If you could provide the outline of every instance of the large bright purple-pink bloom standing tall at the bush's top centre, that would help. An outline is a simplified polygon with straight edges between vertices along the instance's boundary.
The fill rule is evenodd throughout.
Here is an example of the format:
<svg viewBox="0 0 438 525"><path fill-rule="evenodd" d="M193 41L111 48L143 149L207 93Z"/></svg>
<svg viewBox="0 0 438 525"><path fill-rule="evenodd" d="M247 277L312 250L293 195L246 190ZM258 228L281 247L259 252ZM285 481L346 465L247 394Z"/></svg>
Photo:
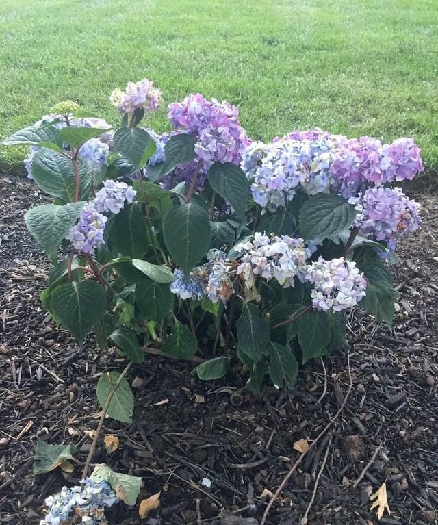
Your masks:
<svg viewBox="0 0 438 525"><path fill-rule="evenodd" d="M195 151L207 168L214 162L240 164L250 144L239 123L239 110L226 101L207 101L201 94L191 94L181 103L170 104L168 117L175 130L198 138Z"/></svg>

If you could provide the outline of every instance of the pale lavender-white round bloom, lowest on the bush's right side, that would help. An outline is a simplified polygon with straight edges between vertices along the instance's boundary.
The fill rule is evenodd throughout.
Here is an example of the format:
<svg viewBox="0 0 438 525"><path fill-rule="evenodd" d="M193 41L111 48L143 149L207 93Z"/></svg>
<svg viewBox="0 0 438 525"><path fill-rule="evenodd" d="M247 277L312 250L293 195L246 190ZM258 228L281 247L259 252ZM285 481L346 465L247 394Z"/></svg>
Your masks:
<svg viewBox="0 0 438 525"><path fill-rule="evenodd" d="M344 257L326 261L322 257L310 264L305 274L313 284L313 308L322 311L342 311L356 306L365 296L367 282L356 263Z"/></svg>

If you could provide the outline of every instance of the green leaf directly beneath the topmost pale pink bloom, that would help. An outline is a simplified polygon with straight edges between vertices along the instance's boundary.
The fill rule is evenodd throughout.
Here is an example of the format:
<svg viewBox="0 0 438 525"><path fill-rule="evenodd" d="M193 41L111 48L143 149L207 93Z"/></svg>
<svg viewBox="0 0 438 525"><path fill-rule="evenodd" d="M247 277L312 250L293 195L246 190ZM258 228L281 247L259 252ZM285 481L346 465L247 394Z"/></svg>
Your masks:
<svg viewBox="0 0 438 525"><path fill-rule="evenodd" d="M155 140L139 127L123 127L114 133L114 151L123 155L136 169L145 166L155 149Z"/></svg>

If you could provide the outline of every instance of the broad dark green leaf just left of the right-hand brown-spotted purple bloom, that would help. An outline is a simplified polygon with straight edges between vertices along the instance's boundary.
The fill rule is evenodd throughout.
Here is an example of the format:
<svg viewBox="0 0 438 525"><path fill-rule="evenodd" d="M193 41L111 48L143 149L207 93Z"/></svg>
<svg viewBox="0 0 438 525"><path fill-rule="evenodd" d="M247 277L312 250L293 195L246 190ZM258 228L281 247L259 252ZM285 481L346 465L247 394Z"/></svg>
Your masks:
<svg viewBox="0 0 438 525"><path fill-rule="evenodd" d="M300 235L305 239L325 239L350 228L356 211L339 195L320 193L311 197L300 211Z"/></svg>

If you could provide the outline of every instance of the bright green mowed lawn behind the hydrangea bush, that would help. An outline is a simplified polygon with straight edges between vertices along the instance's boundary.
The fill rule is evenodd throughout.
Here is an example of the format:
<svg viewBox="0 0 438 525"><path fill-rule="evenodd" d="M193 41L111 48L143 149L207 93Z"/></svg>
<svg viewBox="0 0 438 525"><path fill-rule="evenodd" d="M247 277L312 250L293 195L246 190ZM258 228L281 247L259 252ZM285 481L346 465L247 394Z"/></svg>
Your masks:
<svg viewBox="0 0 438 525"><path fill-rule="evenodd" d="M438 168L436 0L2 0L0 34L0 138L64 99L114 123L112 89L147 77L237 104L253 138L413 136Z"/></svg>

